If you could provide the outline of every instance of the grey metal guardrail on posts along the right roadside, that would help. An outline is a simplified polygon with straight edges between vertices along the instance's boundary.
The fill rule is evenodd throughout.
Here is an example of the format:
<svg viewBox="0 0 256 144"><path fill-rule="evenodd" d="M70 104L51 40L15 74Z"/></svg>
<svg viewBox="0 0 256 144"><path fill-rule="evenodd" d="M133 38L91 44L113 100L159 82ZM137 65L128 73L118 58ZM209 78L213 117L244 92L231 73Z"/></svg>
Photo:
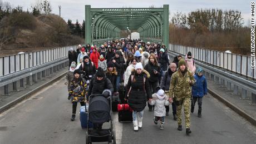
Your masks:
<svg viewBox="0 0 256 144"><path fill-rule="evenodd" d="M173 52L170 47L168 53L171 56L178 56L181 53ZM191 51L192 52L192 51ZM185 56L185 54L181 54L181 56ZM251 103L250 105L256 105L256 83L255 81L247 80L246 78L240 77L236 73L232 73L229 71L223 71L222 69L218 69L212 66L209 66L208 62L199 61L195 59L195 63L197 66L204 68L206 78L210 78L211 81L218 81L219 84L225 86L227 83L228 91L232 90L233 85L233 95L239 95L238 88L242 88L242 95L240 99L249 99L247 97L247 92L251 92L252 95L250 97Z"/></svg>

